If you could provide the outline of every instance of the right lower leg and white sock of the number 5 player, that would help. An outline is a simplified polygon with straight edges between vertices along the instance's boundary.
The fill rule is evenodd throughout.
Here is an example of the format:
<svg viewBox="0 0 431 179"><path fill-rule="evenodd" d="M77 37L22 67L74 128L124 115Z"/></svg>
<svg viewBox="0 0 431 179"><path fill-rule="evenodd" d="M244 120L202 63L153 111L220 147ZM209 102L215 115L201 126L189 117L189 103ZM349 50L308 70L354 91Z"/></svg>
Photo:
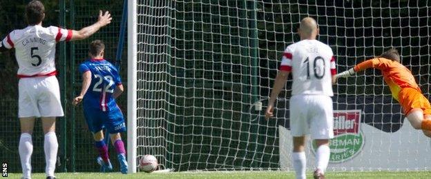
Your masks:
<svg viewBox="0 0 431 179"><path fill-rule="evenodd" d="M47 177L54 177L55 163L57 162L58 141L55 135L55 117L42 117L42 127L44 128L44 151Z"/></svg>

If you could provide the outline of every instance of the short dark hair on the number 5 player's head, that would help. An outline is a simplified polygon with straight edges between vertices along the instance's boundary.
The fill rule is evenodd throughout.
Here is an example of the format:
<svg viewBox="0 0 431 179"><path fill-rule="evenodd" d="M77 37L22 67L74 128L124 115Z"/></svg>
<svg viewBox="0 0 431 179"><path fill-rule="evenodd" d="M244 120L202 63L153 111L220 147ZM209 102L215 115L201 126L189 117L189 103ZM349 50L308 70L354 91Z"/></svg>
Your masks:
<svg viewBox="0 0 431 179"><path fill-rule="evenodd" d="M33 0L26 6L26 19L29 25L36 25L44 20L45 7L41 1Z"/></svg>

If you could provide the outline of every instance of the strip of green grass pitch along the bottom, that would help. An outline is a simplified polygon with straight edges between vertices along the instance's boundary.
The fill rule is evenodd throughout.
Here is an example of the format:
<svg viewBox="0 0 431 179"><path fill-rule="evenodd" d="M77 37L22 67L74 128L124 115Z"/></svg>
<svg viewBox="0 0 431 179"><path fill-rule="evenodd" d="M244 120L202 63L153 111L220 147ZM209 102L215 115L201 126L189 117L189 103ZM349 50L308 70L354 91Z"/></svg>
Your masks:
<svg viewBox="0 0 431 179"><path fill-rule="evenodd" d="M293 172L283 171L204 171L204 172L171 172L171 173L56 173L57 178L295 178ZM9 178L20 178L21 173L9 173ZM33 179L45 178L44 173L33 173ZM312 173L307 173L312 178ZM431 171L328 171L326 178L431 178Z"/></svg>

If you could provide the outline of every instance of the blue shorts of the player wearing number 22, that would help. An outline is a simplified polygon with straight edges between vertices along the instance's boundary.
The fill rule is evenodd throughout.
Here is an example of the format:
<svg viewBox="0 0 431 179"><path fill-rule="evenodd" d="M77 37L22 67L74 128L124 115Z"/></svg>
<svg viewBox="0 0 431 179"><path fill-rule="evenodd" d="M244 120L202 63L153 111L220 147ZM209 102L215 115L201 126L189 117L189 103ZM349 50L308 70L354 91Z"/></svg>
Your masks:
<svg viewBox="0 0 431 179"><path fill-rule="evenodd" d="M109 134L126 131L124 117L119 107L114 107L111 111L102 112L100 109L84 107L84 116L88 125L88 129L93 133L102 130L105 127Z"/></svg>

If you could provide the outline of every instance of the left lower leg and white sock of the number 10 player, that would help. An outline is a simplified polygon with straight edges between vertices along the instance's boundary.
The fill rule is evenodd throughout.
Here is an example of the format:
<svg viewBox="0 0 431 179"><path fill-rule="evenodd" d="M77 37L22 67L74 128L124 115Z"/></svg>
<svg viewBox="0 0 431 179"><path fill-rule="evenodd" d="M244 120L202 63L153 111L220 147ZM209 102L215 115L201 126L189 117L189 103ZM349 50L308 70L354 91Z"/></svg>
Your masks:
<svg viewBox="0 0 431 179"><path fill-rule="evenodd" d="M292 164L294 165L296 178L305 179L305 169L307 166L307 158L305 157L305 136L294 137Z"/></svg>

